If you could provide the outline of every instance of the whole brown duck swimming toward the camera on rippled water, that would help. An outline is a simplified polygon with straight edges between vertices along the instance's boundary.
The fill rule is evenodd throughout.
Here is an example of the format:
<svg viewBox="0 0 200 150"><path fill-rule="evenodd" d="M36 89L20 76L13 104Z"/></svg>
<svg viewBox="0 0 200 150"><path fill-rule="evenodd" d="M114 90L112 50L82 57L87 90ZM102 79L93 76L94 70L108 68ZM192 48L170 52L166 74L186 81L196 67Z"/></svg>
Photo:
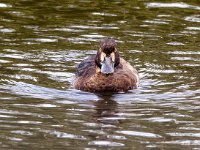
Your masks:
<svg viewBox="0 0 200 150"><path fill-rule="evenodd" d="M139 75L120 57L116 41L106 37L95 55L77 65L73 85L87 92L127 92L139 86Z"/></svg>

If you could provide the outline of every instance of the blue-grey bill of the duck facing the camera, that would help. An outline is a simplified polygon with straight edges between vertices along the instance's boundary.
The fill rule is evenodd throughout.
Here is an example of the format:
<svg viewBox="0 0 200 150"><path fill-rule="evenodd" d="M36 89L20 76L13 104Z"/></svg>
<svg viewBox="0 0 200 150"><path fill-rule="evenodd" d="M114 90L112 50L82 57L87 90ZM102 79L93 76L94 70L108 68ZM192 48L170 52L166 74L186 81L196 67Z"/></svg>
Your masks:
<svg viewBox="0 0 200 150"><path fill-rule="evenodd" d="M105 57L104 62L101 64L101 73L111 74L114 72L114 63L111 57Z"/></svg>

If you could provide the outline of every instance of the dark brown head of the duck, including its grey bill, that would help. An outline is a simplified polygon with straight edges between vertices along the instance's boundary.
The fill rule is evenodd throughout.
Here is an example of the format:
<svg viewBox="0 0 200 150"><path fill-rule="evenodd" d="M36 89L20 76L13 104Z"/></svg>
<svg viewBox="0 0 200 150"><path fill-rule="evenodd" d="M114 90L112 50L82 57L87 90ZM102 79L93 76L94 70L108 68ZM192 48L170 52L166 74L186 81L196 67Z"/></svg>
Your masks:
<svg viewBox="0 0 200 150"><path fill-rule="evenodd" d="M100 42L100 48L95 58L96 72L106 75L114 73L114 68L120 63L119 52L116 46L115 40L110 37L104 38Z"/></svg>

